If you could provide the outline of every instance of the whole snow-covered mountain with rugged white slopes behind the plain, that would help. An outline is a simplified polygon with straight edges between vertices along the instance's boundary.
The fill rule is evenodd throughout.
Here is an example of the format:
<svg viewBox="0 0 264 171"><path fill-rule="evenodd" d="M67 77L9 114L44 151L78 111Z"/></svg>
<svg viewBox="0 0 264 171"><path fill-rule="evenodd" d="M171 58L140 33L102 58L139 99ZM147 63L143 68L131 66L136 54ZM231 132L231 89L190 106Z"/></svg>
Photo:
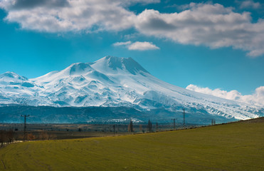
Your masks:
<svg viewBox="0 0 264 171"><path fill-rule="evenodd" d="M258 106L173 86L152 76L132 58L106 56L93 63L73 63L28 79L16 73L0 75L0 103L75 107L128 107L142 112L200 113L248 119L263 115ZM157 112L159 110L159 112ZM198 117L198 114L197 114Z"/></svg>

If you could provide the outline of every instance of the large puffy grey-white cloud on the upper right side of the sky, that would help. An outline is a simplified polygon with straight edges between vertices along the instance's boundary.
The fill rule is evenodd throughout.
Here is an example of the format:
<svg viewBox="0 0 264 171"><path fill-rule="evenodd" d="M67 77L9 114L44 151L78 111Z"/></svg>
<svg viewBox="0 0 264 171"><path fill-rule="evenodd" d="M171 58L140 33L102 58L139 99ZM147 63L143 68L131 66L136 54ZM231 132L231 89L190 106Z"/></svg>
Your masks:
<svg viewBox="0 0 264 171"><path fill-rule="evenodd" d="M177 43L211 48L232 46L249 51L249 56L264 54L264 20L251 22L250 13L238 14L221 4L189 4L180 13L161 14L146 9L137 16L136 28L149 36Z"/></svg>

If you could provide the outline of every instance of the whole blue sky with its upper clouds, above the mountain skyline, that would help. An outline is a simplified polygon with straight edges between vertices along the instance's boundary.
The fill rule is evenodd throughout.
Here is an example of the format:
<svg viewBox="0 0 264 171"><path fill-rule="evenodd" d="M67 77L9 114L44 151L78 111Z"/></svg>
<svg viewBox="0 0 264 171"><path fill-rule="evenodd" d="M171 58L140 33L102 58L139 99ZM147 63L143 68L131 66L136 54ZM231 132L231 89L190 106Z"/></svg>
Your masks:
<svg viewBox="0 0 264 171"><path fill-rule="evenodd" d="M0 0L0 73L35 78L112 55L183 88L261 94L263 9L256 0Z"/></svg>

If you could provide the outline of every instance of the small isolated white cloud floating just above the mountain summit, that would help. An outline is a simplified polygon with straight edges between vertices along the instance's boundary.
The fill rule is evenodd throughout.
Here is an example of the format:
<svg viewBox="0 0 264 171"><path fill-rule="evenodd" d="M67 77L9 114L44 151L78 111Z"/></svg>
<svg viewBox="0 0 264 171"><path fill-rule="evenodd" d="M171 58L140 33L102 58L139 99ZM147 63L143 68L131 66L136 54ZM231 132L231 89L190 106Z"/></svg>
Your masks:
<svg viewBox="0 0 264 171"><path fill-rule="evenodd" d="M129 50L132 51L147 51L147 50L155 50L159 49L156 45L154 45L152 42L148 41L136 41L132 43L131 41L125 41L125 42L117 42L113 44L114 46L125 46Z"/></svg>

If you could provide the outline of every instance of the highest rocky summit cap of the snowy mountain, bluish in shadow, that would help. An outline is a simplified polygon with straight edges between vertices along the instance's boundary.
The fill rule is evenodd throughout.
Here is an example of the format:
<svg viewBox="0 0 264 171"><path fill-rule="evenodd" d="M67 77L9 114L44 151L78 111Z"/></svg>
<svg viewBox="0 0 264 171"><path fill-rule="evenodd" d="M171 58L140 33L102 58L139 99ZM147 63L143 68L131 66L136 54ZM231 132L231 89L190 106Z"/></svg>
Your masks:
<svg viewBox="0 0 264 171"><path fill-rule="evenodd" d="M91 64L93 68L104 73L105 72L116 72L117 70L127 71L135 75L136 73L149 73L142 66L139 65L132 58L120 58L116 56L105 56L100 58L98 61L95 61Z"/></svg>

